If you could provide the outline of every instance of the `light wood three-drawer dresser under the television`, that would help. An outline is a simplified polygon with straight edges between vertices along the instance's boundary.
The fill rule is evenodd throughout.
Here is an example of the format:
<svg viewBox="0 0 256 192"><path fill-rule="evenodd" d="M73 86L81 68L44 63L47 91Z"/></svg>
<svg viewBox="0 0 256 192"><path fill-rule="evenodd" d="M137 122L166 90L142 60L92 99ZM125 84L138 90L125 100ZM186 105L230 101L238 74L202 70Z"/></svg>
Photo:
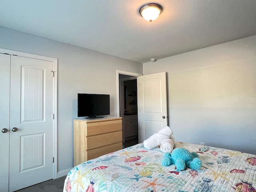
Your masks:
<svg viewBox="0 0 256 192"><path fill-rule="evenodd" d="M122 117L74 119L74 166L122 149Z"/></svg>

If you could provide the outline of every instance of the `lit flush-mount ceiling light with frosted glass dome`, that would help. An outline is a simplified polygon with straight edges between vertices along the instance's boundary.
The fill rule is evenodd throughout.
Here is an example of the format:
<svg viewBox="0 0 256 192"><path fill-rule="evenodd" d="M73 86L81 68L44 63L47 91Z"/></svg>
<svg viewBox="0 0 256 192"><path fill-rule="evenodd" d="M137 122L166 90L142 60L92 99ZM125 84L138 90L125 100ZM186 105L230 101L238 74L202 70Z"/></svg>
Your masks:
<svg viewBox="0 0 256 192"><path fill-rule="evenodd" d="M159 14L162 12L162 6L155 3L149 3L142 6L139 10L140 15L147 21L154 21L158 18Z"/></svg>

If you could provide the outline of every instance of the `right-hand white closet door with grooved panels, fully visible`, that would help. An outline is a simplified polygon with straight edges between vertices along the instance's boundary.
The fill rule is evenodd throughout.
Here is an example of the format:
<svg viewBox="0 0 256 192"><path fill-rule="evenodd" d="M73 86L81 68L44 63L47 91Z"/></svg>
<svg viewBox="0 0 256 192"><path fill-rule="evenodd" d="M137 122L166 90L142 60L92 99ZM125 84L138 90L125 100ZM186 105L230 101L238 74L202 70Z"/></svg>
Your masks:
<svg viewBox="0 0 256 192"><path fill-rule="evenodd" d="M53 178L53 62L11 56L9 190Z"/></svg>

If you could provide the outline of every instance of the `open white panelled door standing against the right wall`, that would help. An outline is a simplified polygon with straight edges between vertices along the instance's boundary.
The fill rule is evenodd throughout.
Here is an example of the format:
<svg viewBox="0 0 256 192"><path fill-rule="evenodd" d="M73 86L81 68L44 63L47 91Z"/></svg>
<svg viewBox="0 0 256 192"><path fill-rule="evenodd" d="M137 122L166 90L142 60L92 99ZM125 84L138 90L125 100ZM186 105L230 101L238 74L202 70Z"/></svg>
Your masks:
<svg viewBox="0 0 256 192"><path fill-rule="evenodd" d="M139 76L138 140L143 142L167 126L166 73Z"/></svg>

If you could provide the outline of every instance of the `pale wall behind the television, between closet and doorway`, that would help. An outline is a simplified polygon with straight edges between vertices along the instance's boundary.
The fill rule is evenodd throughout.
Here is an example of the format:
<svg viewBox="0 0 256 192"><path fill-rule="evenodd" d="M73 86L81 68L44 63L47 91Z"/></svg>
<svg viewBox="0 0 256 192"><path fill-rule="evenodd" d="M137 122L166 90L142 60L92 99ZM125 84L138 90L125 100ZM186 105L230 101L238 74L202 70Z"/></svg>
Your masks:
<svg viewBox="0 0 256 192"><path fill-rule="evenodd" d="M116 116L116 70L142 74L141 63L1 26L0 48L58 59L58 176L73 167L77 93L110 94L110 116Z"/></svg>

